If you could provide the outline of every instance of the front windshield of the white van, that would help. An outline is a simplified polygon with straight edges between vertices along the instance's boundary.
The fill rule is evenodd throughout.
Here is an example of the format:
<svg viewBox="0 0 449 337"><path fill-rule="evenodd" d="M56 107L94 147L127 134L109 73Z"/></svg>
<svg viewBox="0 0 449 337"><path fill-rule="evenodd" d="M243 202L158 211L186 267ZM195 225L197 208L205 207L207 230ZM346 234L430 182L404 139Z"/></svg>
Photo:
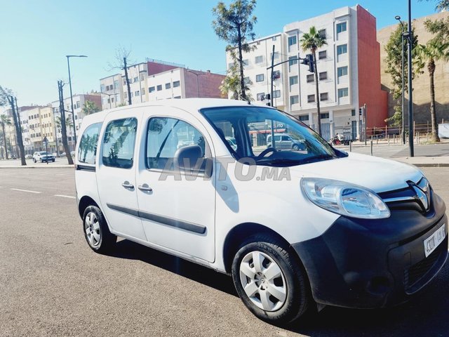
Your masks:
<svg viewBox="0 0 449 337"><path fill-rule="evenodd" d="M217 107L201 110L236 159L293 166L345 157L295 117L268 107ZM234 140L234 145L229 142ZM274 141L273 141L274 140Z"/></svg>

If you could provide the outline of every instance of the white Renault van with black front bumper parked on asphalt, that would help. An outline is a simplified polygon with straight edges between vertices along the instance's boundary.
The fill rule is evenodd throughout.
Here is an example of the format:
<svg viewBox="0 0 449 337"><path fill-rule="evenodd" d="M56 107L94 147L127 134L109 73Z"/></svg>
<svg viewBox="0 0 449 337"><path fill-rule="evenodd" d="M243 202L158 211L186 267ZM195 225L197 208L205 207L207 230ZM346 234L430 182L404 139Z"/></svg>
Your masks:
<svg viewBox="0 0 449 337"><path fill-rule="evenodd" d="M286 128L305 150L266 147ZM86 116L80 135L91 249L119 236L228 273L268 322L401 303L448 256L445 204L422 171L336 150L272 107L159 100Z"/></svg>

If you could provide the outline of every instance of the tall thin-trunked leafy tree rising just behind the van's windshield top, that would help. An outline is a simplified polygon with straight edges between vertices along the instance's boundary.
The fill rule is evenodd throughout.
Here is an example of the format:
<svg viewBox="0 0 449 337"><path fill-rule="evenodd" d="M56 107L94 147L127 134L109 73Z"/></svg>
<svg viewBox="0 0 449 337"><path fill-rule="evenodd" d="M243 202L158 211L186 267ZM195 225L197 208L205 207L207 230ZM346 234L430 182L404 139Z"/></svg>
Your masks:
<svg viewBox="0 0 449 337"><path fill-rule="evenodd" d="M235 0L229 4L229 8L220 1L212 9L215 20L212 27L219 39L226 41L228 46L226 50L231 53L234 64L238 63L240 91L239 96L242 100L248 100L246 94L245 76L243 74L243 52L251 51L248 39L255 39L253 31L257 18L253 15L255 9L255 0ZM236 55L234 49L237 49ZM234 75L233 75L234 76Z"/></svg>

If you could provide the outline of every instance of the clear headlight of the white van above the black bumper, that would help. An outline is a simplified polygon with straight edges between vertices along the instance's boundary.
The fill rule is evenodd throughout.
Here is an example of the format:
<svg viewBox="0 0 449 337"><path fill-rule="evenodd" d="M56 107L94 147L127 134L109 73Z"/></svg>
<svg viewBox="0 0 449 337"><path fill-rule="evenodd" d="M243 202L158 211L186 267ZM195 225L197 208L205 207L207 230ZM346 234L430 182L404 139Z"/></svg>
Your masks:
<svg viewBox="0 0 449 337"><path fill-rule="evenodd" d="M387 205L375 192L343 181L323 178L302 178L302 192L328 211L362 219L389 218Z"/></svg>

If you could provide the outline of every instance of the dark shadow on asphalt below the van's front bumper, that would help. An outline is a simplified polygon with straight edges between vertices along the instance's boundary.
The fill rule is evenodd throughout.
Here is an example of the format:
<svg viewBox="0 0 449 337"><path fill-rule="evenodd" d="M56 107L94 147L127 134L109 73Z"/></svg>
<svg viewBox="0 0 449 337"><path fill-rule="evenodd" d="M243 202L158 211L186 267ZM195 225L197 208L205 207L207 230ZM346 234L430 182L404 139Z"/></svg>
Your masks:
<svg viewBox="0 0 449 337"><path fill-rule="evenodd" d="M449 263L408 303L379 310L327 307L286 329L311 337L449 336Z"/></svg>

